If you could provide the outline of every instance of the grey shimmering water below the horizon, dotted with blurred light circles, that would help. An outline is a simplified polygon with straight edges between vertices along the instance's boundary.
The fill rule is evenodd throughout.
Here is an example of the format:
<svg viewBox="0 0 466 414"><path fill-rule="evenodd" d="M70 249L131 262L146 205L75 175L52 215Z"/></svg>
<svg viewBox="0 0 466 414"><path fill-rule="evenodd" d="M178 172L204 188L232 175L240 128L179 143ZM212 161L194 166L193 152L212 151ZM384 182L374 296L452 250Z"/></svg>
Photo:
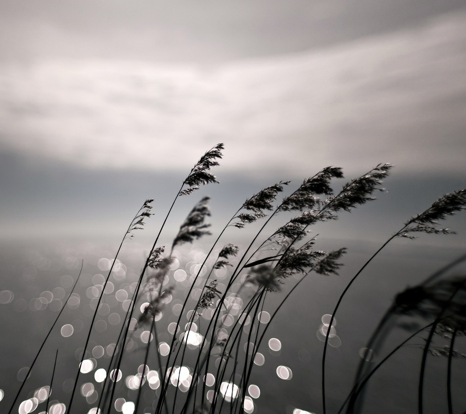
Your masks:
<svg viewBox="0 0 466 414"><path fill-rule="evenodd" d="M175 287L170 300L164 305L163 316L157 321L159 342L170 343L174 332L173 322L181 309L192 279L199 270L199 264L205 258L202 245L189 246L175 251L176 260L171 265L168 285ZM321 363L323 333L328 317L324 315L333 311L338 295L349 279L363 265L378 246L356 240L342 241L336 239L319 240L318 249L330 251L347 247L349 252L343 258L345 266L340 275L322 276L310 273L289 297L277 317L270 322L264 342L261 344L258 364L254 366L249 389L253 397L251 405L257 413L298 413L296 409L311 413L322 412L321 398ZM113 240L103 241L55 241L55 242L14 242L3 243L0 262L0 389L3 399L0 401L2 412L7 412L14 395L19 389L27 368L53 324L58 312L71 291L83 263L82 275L72 298L63 311L57 325L42 350L30 378L21 393L19 404L34 397L34 392L50 384L55 351L58 349L57 368L50 404L68 406L73 379L77 373L86 333L92 314L96 307L104 279L107 277L110 260L117 250ZM119 261L114 266L100 305L96 323L88 346L89 368L83 369L76 390L73 405L77 413L87 413L97 406L102 390L101 380L110 361L112 345L116 342L118 329L123 323L134 292L139 272L144 265L144 253L147 246L131 241L124 245ZM334 334L330 338L327 356L327 407L329 413L336 413L348 395L357 364L361 361L362 349L370 334L391 305L397 292L408 285L413 286L427 278L433 271L446 265L464 252L459 248L442 248L438 245L426 245L399 240L389 245L361 274L349 290L338 314ZM214 257L214 256L212 256ZM216 256L215 256L216 257ZM210 269L213 260L206 264ZM461 274L465 266L460 265L450 274ZM201 275L203 272L201 272ZM205 277L205 276L204 276ZM219 290L225 288L227 279L223 269L213 276L219 282ZM298 278L290 278L280 292L267 297L260 326L265 326L268 315L273 314L277 304L295 285ZM195 286L193 298L196 296ZM233 291L238 286L233 285ZM223 291L222 291L223 292ZM199 294L199 290L198 290ZM243 299L251 294L245 289ZM248 296L249 295L249 296ZM189 303L192 309L194 299ZM139 299L136 315L147 297ZM236 316L233 316L233 319ZM327 319L326 319L327 318ZM204 312L196 322L198 332L203 333L207 319ZM186 315L181 319L181 328L187 323ZM170 326L170 324L172 324ZM130 406L123 403L136 400L134 377L137 369L144 362L144 350L148 335L142 334L148 327L138 329L127 344L121 366L122 378L119 381L116 398L117 409L123 413L130 412ZM323 329L323 330L322 330ZM148 334L148 333L147 333ZM382 353L388 353L394 346L409 336L410 332L395 329L386 339ZM436 339L438 346L447 342ZM414 413L417 410L418 372L424 344L418 338L410 346L400 349L370 380L365 393L364 413ZM459 352L464 346L463 339L457 341ZM456 348L456 346L455 346ZM187 350L186 365L193 364L195 346ZM150 370L159 369L155 357L155 347L149 358ZM164 351L161 349L162 360ZM192 353L192 354L190 354ZM375 355L374 363L382 355ZM453 362L452 394L454 407L464 409L466 400L462 393L466 361L455 359ZM99 371L100 370L100 371ZM211 372L216 372L213 369ZM130 377L130 379L128 379ZM133 380L133 382L131 382ZM234 381L234 380L233 380ZM137 382L137 381L136 381ZM157 385L153 380L152 386ZM138 384L138 382L137 382ZM425 413L446 412L446 358L429 356L426 371ZM175 384L176 385L176 384ZM157 400L158 389L152 389L151 382L143 386L144 413L153 412L152 403ZM133 388L133 389L131 389ZM137 386L136 386L137 388ZM174 386L170 386L173 392ZM182 387L180 386L182 390ZM208 387L209 389L209 387ZM178 391L179 392L179 391ZM42 394L45 391L42 390ZM40 401L40 399L39 399ZM97 402L96 402L97 401ZM20 407L19 413L28 412L28 407ZM33 407L34 408L34 407ZM178 407L178 410L181 407ZM21 409L23 411L21 411ZM62 407L55 408L59 412ZM26 411L24 411L26 410ZM45 402L39 403L34 412L45 410ZM15 408L14 412L18 412Z"/></svg>

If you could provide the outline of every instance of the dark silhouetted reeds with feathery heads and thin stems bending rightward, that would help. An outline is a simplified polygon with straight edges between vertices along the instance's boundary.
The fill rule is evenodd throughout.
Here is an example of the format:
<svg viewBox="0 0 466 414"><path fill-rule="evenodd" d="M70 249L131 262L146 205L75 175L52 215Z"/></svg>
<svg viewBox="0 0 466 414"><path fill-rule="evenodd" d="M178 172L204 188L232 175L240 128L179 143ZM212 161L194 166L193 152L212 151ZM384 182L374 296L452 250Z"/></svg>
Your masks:
<svg viewBox="0 0 466 414"><path fill-rule="evenodd" d="M123 414L252 413L255 402L248 395L248 387L254 362L257 361L257 354L266 338L267 328L283 303L309 273L338 274L337 271L342 266L340 261L346 253L344 247L329 252L316 250L316 240L309 236L309 227L318 222L336 220L341 211L351 211L359 205L374 200L374 194L377 191L384 191L381 187L382 180L389 175L391 170L390 164L378 164L363 175L350 180L336 192L332 189L331 182L334 178L343 178L342 169L326 167L314 176L306 178L296 190L282 198L281 201L277 201L277 197L288 187L290 183L288 181L275 183L248 198L220 231L210 250L206 251L204 262L200 265L197 274L193 275L192 284L185 292L185 300L171 335L168 351L162 353L158 339L158 320L163 312L167 312L164 307L165 299L177 289L176 281L170 270L173 251L182 244L194 243L197 239L210 234L209 224L206 223L207 217L210 216L209 198L204 197L194 205L184 223L179 227L170 246L159 246L158 239L178 197L190 196L199 189L200 185L218 183L211 169L219 165L218 161L222 157L223 149L223 144L218 144L207 151L181 183L140 272L130 306L122 318L119 335L115 339L117 346L114 347L108 366L103 366L106 376L101 382L100 398L96 407L89 410L90 414L110 414L117 408L118 411L123 411ZM131 220L105 279L95 313L89 324L86 341L83 344L81 361L75 368L74 387L71 398L66 404L68 413L76 410L73 402L76 398L80 398L81 366L86 358L93 332L92 327L104 296L105 286L111 277L123 243L126 239L132 238L135 231L143 229L145 220L151 217L152 202L151 199L146 200ZM407 220L349 280L332 312L323 343L322 413L327 412L325 362L331 327L338 307L351 284L393 239L414 239L418 233L452 233L447 228L439 227L438 223L465 207L466 190L459 190L439 198L424 212ZM294 217L278 229L267 233L270 228L267 224L272 217L281 212L291 212ZM263 225L247 246L240 248L233 244L219 244L223 243L223 235L227 229L231 227L243 229L258 220L262 220ZM214 251L219 253L215 260L212 260L211 255ZM204 269L208 258L214 264L210 266L210 269ZM235 259L236 265L234 266L230 263L232 258ZM463 354L455 351L453 346L455 338L466 334L466 278L452 280L442 278L442 275L464 259L465 256L459 258L455 263L432 275L423 284L410 288L395 298L393 305L387 310L369 340L367 355L363 355L356 373L354 387L346 400L345 396L342 396L342 407L339 412L359 412L363 401L362 391L370 377L400 347L408 344L417 335L427 332L425 345L421 346L423 357L419 374L419 413L423 413L423 379L429 354L444 356L448 361L448 410L452 413L452 359L464 357ZM222 268L228 271L228 276L225 284L222 283L220 288L214 275L216 270ZM293 278L290 278L291 276ZM78 279L69 295L75 289ZM233 292L232 287L235 284L236 288ZM281 289L284 284L292 284L291 288L287 288L286 295ZM202 287L197 300L191 295L195 285ZM274 311L267 324L260 324L260 312L264 309L266 301L268 306L274 307ZM145 305L141 312L143 302ZM51 326L30 365L26 379L22 382L9 413L12 413L16 407L21 391L27 384L27 377L61 313ZM206 326L201 329L196 321L203 313L209 316ZM188 323L182 322L182 318L186 318L186 315L188 315ZM412 318L416 317L425 319L427 321L425 326L418 329L418 324L407 322L407 318L414 320ZM227 319L228 323L226 323ZM137 323L134 323L134 320L137 320ZM389 321L391 323L388 323ZM393 323L393 321L397 322ZM387 334L387 329L393 329L393 326L397 324L416 332L395 347L384 359L371 359L369 353L380 346ZM125 349L129 339L141 329L148 331L149 337L144 353L139 354L141 360L137 364L139 365L137 375L132 379L133 384L136 381L136 387L133 387L133 390L137 390L137 397L122 409L115 405L119 394L118 387L121 387L119 380L122 375L122 361L128 354ZM434 346L434 336L447 339L448 344L443 347ZM157 367L150 370L149 363L152 366L156 364ZM53 411L49 407L49 397L50 389L55 386L54 373L55 365L51 373L48 398L43 399L44 404L46 403L45 412L48 414ZM150 391L149 407L148 394L143 391Z"/></svg>

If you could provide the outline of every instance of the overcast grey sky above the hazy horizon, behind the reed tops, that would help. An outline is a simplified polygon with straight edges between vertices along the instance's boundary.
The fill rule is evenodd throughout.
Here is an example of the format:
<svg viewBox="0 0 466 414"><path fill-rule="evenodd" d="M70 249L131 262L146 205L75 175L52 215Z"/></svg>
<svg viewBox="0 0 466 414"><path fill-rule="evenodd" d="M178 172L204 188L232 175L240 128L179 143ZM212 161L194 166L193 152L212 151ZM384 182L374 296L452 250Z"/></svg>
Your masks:
<svg viewBox="0 0 466 414"><path fill-rule="evenodd" d="M464 27L459 0L0 0L2 237L109 232L219 142L219 206L391 162L415 214L466 186Z"/></svg>

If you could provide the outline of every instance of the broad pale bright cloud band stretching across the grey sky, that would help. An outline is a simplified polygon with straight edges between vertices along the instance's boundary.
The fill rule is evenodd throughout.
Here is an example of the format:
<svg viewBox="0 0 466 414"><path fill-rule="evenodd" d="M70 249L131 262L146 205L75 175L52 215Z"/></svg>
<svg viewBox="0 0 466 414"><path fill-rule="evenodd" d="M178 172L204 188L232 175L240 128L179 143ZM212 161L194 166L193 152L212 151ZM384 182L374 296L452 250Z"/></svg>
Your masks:
<svg viewBox="0 0 466 414"><path fill-rule="evenodd" d="M217 65L43 60L0 67L0 149L162 170L226 143L224 168L392 162L465 172L466 13L301 54Z"/></svg>

